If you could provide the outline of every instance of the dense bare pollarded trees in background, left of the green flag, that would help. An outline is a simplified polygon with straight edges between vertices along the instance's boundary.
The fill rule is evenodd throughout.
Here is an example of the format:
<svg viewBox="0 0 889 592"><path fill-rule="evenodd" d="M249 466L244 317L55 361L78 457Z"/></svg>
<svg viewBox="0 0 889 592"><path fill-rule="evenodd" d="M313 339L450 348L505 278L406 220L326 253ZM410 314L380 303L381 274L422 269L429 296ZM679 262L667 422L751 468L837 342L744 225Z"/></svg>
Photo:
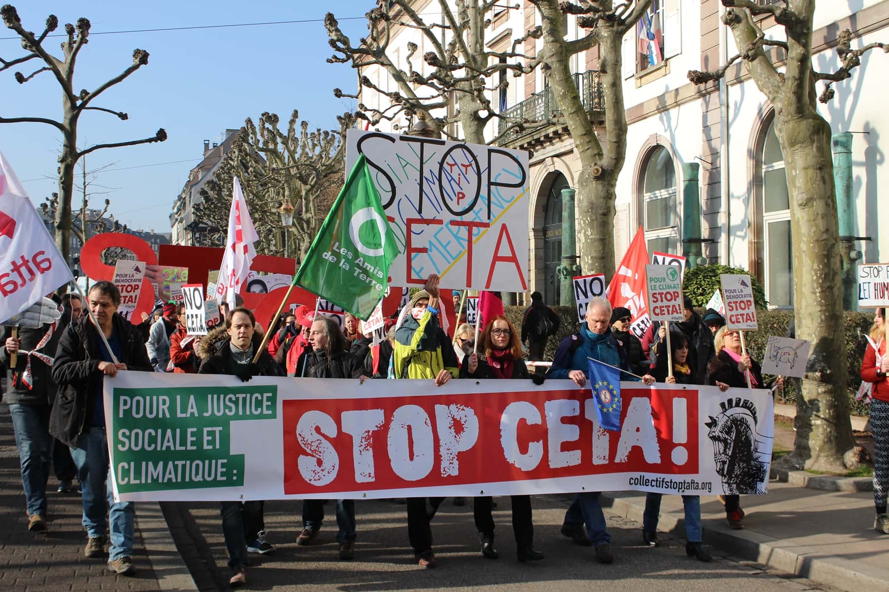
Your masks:
<svg viewBox="0 0 889 592"><path fill-rule="evenodd" d="M284 202L294 208L294 232L289 233L289 238L296 248L291 252L301 256L308 251L332 205L332 200L324 197L332 187L342 184L346 150L343 140L355 118L353 114L343 114L337 118L339 130L310 131L308 122L300 122L299 117L294 109L286 130L279 127L276 114L262 114L258 126L246 120L220 168L204 185L202 202L196 205L196 217L216 229L208 235L209 241L218 240L219 235L225 237L232 179L237 177L260 235L262 252L284 251L276 238L281 231L277 209Z"/></svg>

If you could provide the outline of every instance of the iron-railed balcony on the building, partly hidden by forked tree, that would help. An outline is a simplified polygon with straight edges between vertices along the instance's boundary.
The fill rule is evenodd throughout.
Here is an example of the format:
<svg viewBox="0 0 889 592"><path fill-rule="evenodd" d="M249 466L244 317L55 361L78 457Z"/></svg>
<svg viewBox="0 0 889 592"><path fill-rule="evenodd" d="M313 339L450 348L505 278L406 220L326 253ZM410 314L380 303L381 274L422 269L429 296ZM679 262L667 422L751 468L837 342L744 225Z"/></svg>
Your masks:
<svg viewBox="0 0 889 592"><path fill-rule="evenodd" d="M605 111L605 96L602 92L602 75L598 70L588 70L582 74L573 75L574 84L577 90L581 92L581 102L583 108L590 114L591 118L601 119L601 112ZM597 116L597 114L599 116ZM497 129L498 135L503 133L509 125L516 122L545 122L548 120L557 120L562 116L562 110L558 106L555 93L552 87L547 87L543 91L534 93L528 99L521 103L509 107L501 113L506 119L499 120ZM554 122L557 125L558 122ZM500 146L518 146L533 140L535 136L541 136L544 130L550 130L553 126L540 127L532 125L519 129L510 130L509 133L502 136L497 144Z"/></svg>

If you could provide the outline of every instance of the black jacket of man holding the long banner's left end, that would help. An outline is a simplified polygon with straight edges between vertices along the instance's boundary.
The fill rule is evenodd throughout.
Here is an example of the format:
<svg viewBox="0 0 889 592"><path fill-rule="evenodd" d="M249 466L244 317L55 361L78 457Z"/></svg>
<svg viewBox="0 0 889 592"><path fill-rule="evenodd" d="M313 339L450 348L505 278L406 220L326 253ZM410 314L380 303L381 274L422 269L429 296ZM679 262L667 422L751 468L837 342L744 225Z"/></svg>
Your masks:
<svg viewBox="0 0 889 592"><path fill-rule="evenodd" d="M151 372L140 333L119 314L114 315L112 323L120 342L119 361L127 370ZM104 382L99 370L100 347L104 345L99 331L86 314L68 325L59 338L52 364L52 380L59 385L59 392L50 415L50 433L68 446L77 446L87 419L92 417L92 393Z"/></svg>

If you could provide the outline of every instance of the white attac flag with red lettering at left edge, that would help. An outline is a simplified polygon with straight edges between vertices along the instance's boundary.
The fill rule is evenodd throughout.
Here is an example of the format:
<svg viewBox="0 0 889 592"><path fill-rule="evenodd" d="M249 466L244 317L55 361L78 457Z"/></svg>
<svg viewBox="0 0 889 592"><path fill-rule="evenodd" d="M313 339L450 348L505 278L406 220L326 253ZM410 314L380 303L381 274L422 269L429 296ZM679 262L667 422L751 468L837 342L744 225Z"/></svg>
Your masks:
<svg viewBox="0 0 889 592"><path fill-rule="evenodd" d="M73 279L28 193L0 153L0 320Z"/></svg>

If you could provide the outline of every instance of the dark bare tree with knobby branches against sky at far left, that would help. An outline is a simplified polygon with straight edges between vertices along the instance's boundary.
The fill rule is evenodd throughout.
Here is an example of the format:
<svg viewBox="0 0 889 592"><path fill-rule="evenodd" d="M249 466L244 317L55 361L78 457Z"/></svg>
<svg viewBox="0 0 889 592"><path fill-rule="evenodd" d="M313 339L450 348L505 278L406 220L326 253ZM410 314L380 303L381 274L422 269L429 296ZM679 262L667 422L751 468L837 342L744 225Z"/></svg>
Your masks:
<svg viewBox="0 0 889 592"><path fill-rule="evenodd" d="M0 17L3 18L7 28L12 29L21 37L21 46L26 51L25 55L15 59L0 58L0 72L17 66L19 64L36 59L43 64L42 67L36 68L29 75L21 72L15 73L15 79L20 84L27 83L36 75L44 72L50 72L59 83L62 91L62 117L59 120L46 117L3 117L0 116L0 123L45 123L52 125L61 132L62 149L59 155L59 199L55 208L55 241L61 254L68 260L68 244L71 233L71 201L74 197L74 179L76 176L76 164L85 154L90 154L96 150L103 148L117 148L121 146L136 146L138 144L147 144L149 142L163 142L167 135L163 129L157 130L157 133L151 138L142 138L129 140L124 142L114 142L110 144L95 144L84 148L77 149L77 124L80 116L86 111L102 111L108 114L116 115L121 120L128 119L127 114L114 111L105 107L94 107L92 101L99 97L103 92L115 86L117 83L123 82L129 75L138 70L140 67L148 64L148 51L135 50L132 52L132 64L124 69L123 72L110 78L107 82L101 83L94 90L86 89L76 91L74 83L76 59L84 45L88 41L90 34L90 21L86 19L78 19L76 25L65 25L65 33L67 38L61 43L62 58L56 58L44 48L44 41L59 26L59 20L55 15L50 15L46 19L43 33L35 36L34 33L25 30L21 25L19 13L15 7L5 4L0 8Z"/></svg>

